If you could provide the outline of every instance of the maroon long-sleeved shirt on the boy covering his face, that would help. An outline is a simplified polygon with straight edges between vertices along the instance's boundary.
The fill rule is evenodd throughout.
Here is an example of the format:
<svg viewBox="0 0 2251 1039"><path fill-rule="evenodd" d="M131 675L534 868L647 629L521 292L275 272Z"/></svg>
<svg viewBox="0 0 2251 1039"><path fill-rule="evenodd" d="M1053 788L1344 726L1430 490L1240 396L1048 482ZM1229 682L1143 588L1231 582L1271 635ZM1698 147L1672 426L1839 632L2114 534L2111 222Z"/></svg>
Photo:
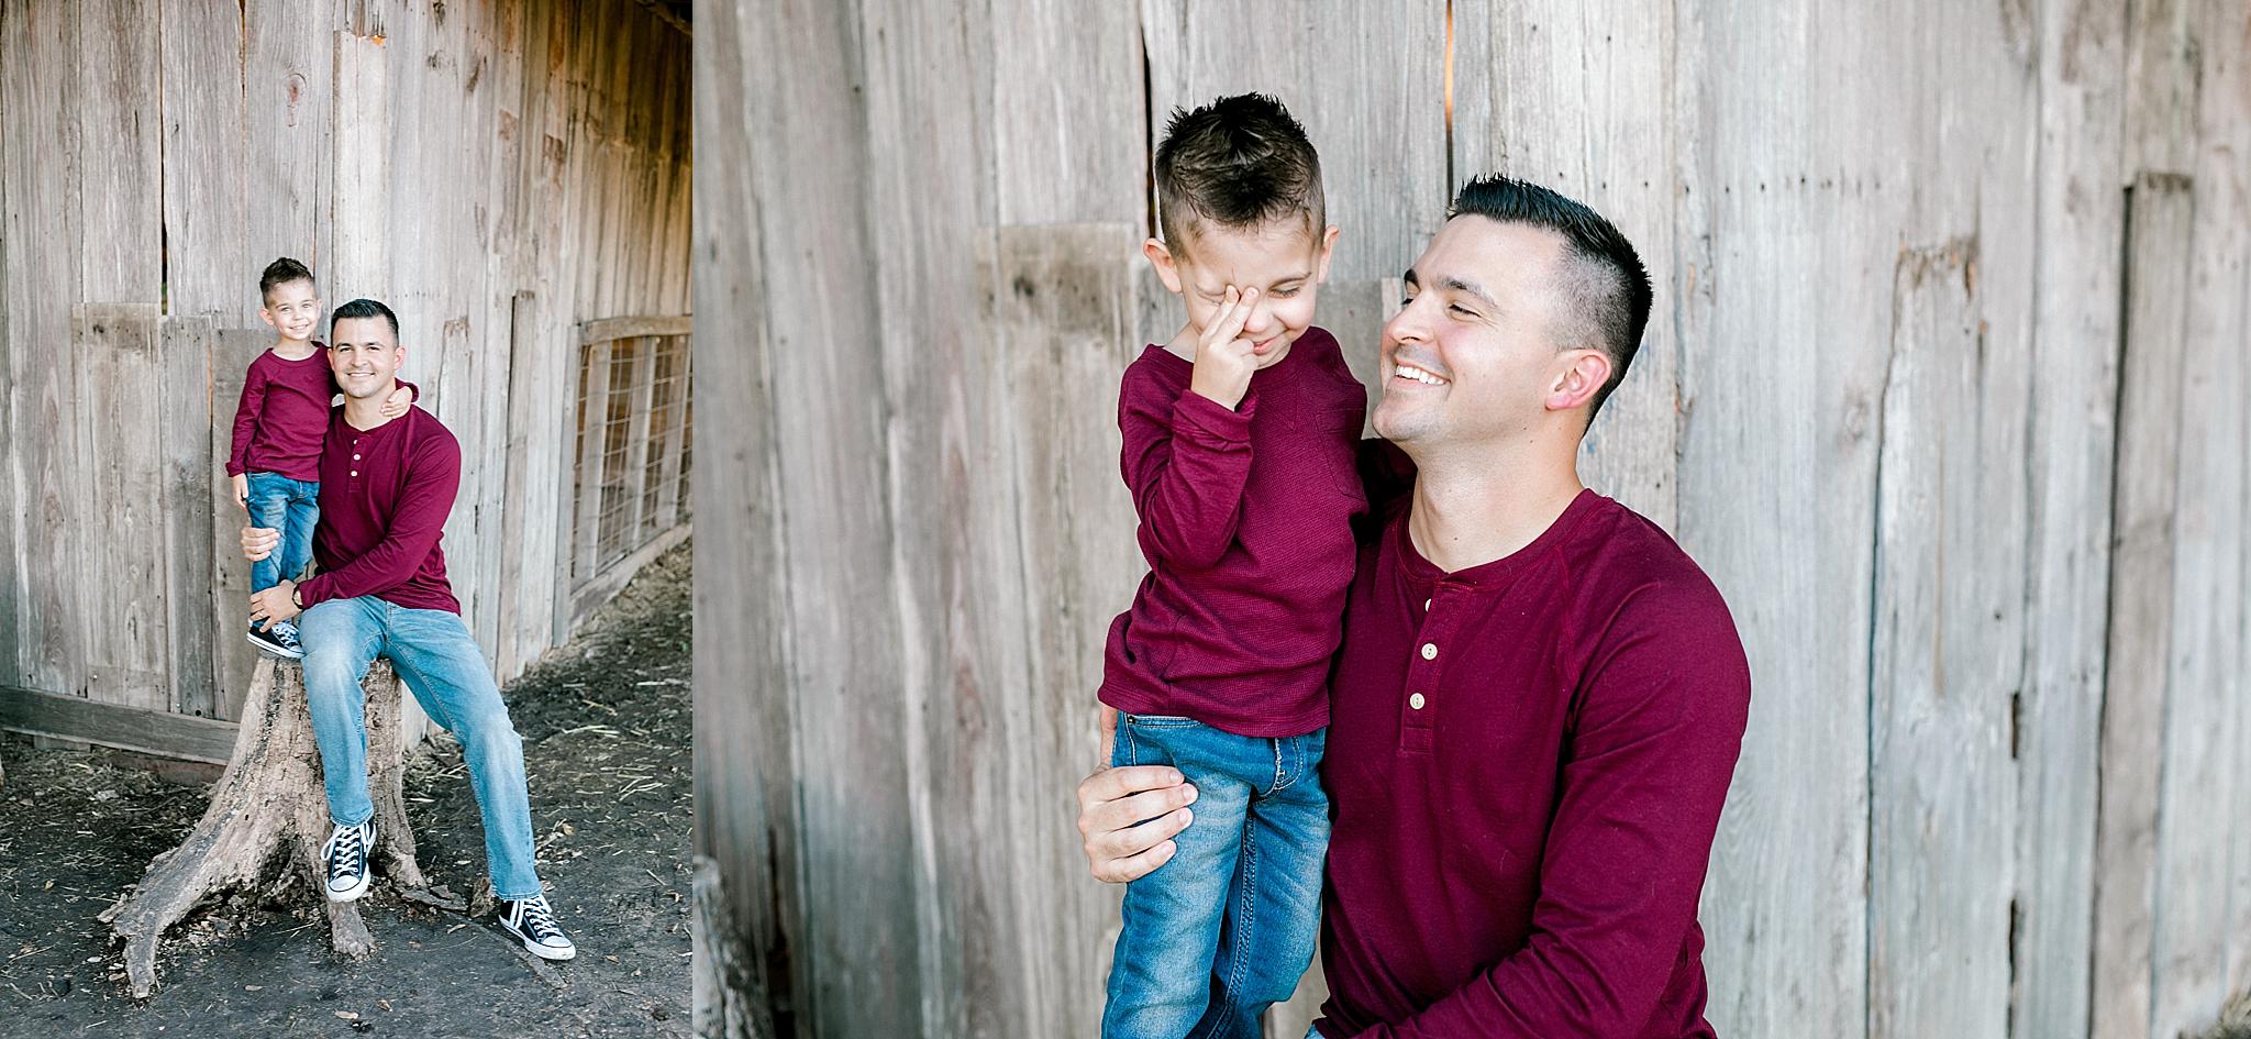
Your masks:
<svg viewBox="0 0 2251 1039"><path fill-rule="evenodd" d="M1355 455L1369 394L1306 329L1236 410L1148 347L1119 388L1123 473L1148 577L1110 624L1101 701L1245 737L1328 723L1328 665L1353 581Z"/></svg>

